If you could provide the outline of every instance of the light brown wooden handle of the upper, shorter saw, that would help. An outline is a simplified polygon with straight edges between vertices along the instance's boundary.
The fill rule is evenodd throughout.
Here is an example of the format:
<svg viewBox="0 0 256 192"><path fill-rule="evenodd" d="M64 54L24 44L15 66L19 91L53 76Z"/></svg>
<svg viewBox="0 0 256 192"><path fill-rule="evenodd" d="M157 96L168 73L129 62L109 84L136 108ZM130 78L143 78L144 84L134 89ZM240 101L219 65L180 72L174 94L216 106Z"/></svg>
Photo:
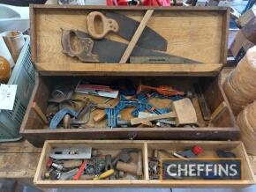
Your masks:
<svg viewBox="0 0 256 192"><path fill-rule="evenodd" d="M116 20L106 18L106 16L104 16L102 12L93 11L90 12L87 16L87 29L88 33L95 40L101 40L109 32L117 33L119 26Z"/></svg>

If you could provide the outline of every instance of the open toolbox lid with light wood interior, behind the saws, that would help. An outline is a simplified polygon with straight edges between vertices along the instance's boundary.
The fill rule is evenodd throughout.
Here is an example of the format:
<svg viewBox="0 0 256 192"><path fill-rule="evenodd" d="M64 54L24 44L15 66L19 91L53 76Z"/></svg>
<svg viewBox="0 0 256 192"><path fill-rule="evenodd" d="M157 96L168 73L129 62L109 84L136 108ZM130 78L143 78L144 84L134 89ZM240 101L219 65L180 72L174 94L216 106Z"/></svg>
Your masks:
<svg viewBox="0 0 256 192"><path fill-rule="evenodd" d="M214 76L222 70L226 63L229 9L220 7L154 8L153 16L147 23L167 41L167 49L162 53L182 56L195 63L82 63L78 58L63 53L62 29L87 33L87 15L91 11L104 14L106 11L118 11L119 14L140 21L147 9L149 7L31 5L31 46L36 70L42 75L71 74L72 71L72 74L87 72L87 75L120 75L123 72L124 75L151 76ZM108 33L105 38L126 45L129 43L115 33ZM152 38L148 41L155 40ZM120 48L111 49L107 46L103 49L109 55L120 51ZM96 54L94 48L93 54Z"/></svg>

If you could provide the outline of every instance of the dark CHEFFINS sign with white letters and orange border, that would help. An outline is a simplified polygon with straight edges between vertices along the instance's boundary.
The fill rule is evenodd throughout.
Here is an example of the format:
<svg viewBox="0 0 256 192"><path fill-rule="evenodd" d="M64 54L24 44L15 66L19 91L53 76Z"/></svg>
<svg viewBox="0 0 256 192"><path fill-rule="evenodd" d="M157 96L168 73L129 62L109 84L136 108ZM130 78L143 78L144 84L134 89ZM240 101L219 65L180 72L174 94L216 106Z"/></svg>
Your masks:
<svg viewBox="0 0 256 192"><path fill-rule="evenodd" d="M161 159L161 180L243 180L243 159Z"/></svg>

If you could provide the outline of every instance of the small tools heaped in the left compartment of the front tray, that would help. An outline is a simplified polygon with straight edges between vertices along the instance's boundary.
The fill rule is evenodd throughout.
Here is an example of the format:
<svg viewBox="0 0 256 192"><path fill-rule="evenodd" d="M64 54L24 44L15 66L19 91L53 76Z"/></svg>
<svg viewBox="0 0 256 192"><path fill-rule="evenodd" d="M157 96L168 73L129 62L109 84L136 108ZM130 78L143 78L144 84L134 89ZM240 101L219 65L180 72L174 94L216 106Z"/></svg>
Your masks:
<svg viewBox="0 0 256 192"><path fill-rule="evenodd" d="M49 154L43 180L139 180L141 150L126 148L116 157L92 147L57 147ZM133 155L133 156L132 156ZM134 155L137 157L134 161Z"/></svg>

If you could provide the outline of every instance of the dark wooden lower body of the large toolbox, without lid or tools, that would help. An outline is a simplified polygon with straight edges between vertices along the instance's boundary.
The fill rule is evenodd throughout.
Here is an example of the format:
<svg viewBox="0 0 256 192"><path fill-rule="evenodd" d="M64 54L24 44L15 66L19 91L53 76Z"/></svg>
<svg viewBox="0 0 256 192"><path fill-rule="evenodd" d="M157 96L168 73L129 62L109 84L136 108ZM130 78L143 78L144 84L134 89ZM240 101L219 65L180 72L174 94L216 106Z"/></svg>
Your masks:
<svg viewBox="0 0 256 192"><path fill-rule="evenodd" d="M99 109L95 110L90 117L88 126L94 128L86 129L49 129L49 125L43 122L43 118L47 110L50 93L53 91L55 85L72 84L77 85L80 78L97 80L98 82L110 82L113 79L124 78L120 76L83 76L83 77L63 77L63 76L36 76L36 85L29 106L26 110L24 121L21 125L20 134L34 144L41 146L45 140L56 139L233 139L239 135L234 115L230 110L230 105L226 99L222 87L220 86L219 77L125 77L130 79L133 85L139 83L146 85L172 85L180 91L192 91L193 84L201 85L202 92L206 99L210 113L214 113L215 109L219 107L224 101L227 104L227 110L219 115L215 122L208 125L207 121L203 120L201 110L198 104L198 95L194 93L192 99L193 106L196 110L200 127L170 127L170 128L108 128L107 119L102 122L94 123L93 116ZM103 100L103 99L101 99ZM169 105L166 102L155 103L155 106L166 107ZM132 118L131 111L123 109L121 114L124 119ZM124 111L124 112L123 112ZM42 114L42 115L41 115Z"/></svg>

